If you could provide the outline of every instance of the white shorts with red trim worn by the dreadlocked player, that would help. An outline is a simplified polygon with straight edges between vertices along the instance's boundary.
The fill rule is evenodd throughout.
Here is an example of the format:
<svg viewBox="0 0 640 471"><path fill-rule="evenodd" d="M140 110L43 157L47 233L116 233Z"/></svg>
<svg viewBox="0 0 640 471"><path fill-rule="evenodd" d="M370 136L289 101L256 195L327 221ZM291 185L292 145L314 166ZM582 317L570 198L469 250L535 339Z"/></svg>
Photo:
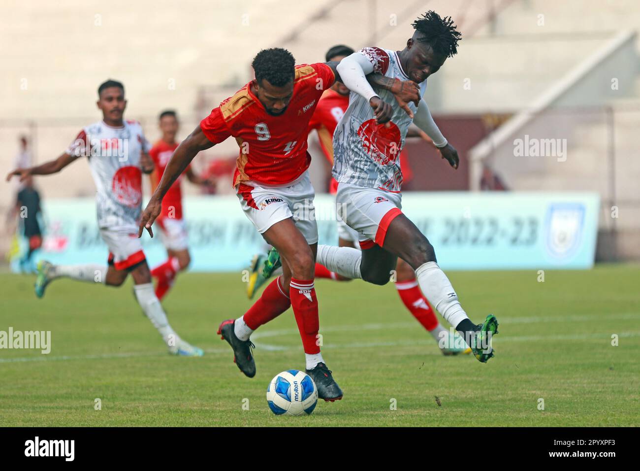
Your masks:
<svg viewBox="0 0 640 471"><path fill-rule="evenodd" d="M382 247L389 224L402 214L402 195L376 188L339 183L335 195L337 212L358 233L360 247Z"/></svg>

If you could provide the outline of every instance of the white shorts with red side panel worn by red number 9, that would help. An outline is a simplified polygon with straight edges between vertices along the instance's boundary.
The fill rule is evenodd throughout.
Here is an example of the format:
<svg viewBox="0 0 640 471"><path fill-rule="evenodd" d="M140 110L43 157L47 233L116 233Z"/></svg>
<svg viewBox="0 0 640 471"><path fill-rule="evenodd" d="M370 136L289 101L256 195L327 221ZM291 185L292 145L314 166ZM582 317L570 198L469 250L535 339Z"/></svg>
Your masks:
<svg viewBox="0 0 640 471"><path fill-rule="evenodd" d="M289 186L264 186L251 181L237 186L240 206L260 234L292 217L309 245L318 241L314 196L308 172Z"/></svg>

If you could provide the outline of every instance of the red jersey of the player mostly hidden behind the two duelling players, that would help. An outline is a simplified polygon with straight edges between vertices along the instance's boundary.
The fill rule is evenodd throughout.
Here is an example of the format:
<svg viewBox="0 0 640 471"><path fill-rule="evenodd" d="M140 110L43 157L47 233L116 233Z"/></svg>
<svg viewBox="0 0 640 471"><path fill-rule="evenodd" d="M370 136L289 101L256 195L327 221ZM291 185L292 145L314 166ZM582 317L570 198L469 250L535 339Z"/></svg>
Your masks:
<svg viewBox="0 0 640 471"><path fill-rule="evenodd" d="M340 95L335 90L326 90L317 104L316 112L309 121L309 132L317 129L320 147L331 165L333 165L333 132L348 107L349 95ZM403 172L404 183L413 178L409 158L404 149L400 151L400 168ZM338 182L332 177L329 193L335 194L337 191Z"/></svg>

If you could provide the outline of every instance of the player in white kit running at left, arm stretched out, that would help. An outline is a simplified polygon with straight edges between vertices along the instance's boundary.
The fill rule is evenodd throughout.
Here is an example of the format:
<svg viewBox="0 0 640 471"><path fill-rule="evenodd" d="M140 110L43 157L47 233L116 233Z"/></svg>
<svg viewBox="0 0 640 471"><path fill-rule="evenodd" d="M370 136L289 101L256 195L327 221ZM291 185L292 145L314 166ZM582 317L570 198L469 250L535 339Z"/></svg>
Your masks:
<svg viewBox="0 0 640 471"><path fill-rule="evenodd" d="M95 263L52 265L48 261L40 261L36 295L42 297L46 286L60 277L120 286L131 273L136 300L161 334L169 352L202 356L201 349L182 340L169 325L154 293L147 260L136 236L142 205L142 172L148 174L154 169L148 155L150 145L140 123L123 119L127 101L122 83L115 80L102 83L98 97L102 121L83 128L67 151L56 160L19 168L7 176L7 180L14 175L19 176L22 181L29 175L54 174L78 158L86 157L95 181L97 220L100 236L109 247L108 266Z"/></svg>

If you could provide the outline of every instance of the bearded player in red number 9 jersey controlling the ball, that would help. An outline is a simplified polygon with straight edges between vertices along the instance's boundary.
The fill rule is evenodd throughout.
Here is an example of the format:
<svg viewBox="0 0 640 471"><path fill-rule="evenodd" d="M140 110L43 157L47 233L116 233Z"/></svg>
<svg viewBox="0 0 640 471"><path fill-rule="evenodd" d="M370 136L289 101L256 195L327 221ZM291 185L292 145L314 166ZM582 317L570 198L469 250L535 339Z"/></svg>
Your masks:
<svg viewBox="0 0 640 471"><path fill-rule="evenodd" d="M240 147L234 188L241 208L263 238L282 255L283 274L267 286L243 316L222 322L218 333L232 347L237 367L253 377L255 361L250 335L291 306L302 338L307 374L316 383L318 397L325 401L341 399L342 390L317 344L314 270L318 235L314 189L307 172L307 132L322 92L337 79L336 65L296 66L285 49L260 51L252 63L255 79L214 108L175 150L138 231L140 236L146 228L153 235L151 225L161 212L164 195L199 151L234 136ZM403 91L406 90L395 90ZM417 94L410 95L417 99ZM380 123L390 119L388 103L374 97L369 104Z"/></svg>

